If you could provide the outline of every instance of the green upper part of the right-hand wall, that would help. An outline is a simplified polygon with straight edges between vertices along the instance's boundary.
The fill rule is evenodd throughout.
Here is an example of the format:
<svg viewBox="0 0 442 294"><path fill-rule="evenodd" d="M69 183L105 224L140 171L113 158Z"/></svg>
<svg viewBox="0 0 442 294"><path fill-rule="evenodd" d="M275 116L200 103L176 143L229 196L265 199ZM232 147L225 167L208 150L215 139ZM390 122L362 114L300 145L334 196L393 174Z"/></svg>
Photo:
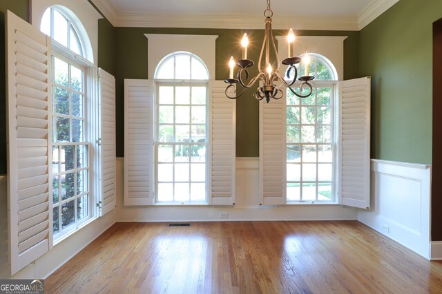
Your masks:
<svg viewBox="0 0 442 294"><path fill-rule="evenodd" d="M432 23L442 1L401 0L360 32L372 76L372 158L432 162Z"/></svg>

